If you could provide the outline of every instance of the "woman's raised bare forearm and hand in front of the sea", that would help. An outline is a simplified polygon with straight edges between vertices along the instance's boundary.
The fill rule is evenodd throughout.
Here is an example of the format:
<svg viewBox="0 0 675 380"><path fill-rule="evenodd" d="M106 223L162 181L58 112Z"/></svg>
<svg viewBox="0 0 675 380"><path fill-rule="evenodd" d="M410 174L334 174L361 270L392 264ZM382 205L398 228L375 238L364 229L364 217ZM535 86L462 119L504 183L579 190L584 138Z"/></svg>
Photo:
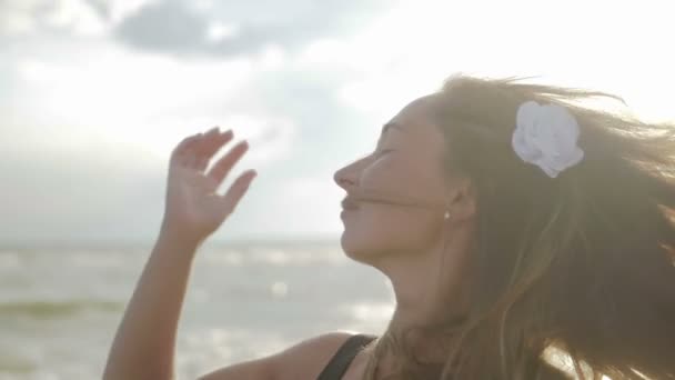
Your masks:
<svg viewBox="0 0 675 380"><path fill-rule="evenodd" d="M224 196L215 193L248 149L245 141L236 144L204 173L232 137L214 128L173 150L162 228L117 331L105 380L173 378L175 332L197 249L234 211L255 177L249 170Z"/></svg>

